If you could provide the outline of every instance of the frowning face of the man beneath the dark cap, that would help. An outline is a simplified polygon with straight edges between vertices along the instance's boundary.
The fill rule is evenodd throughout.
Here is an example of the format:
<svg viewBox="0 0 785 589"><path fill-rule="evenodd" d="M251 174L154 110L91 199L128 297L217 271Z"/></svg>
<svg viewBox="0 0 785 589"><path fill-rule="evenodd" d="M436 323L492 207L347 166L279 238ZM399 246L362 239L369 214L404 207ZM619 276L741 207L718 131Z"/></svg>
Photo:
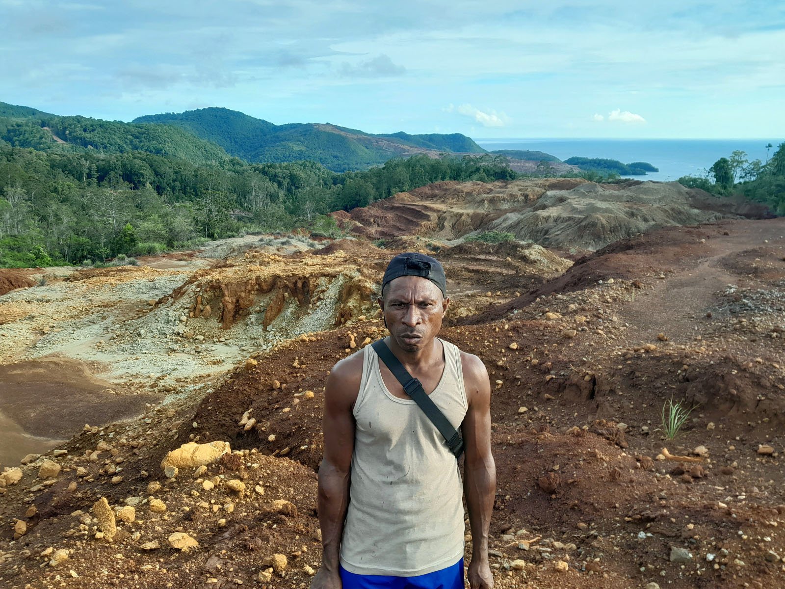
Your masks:
<svg viewBox="0 0 785 589"><path fill-rule="evenodd" d="M433 342L441 329L449 298L421 276L400 276L385 287L379 305L390 336L404 352L418 352Z"/></svg>

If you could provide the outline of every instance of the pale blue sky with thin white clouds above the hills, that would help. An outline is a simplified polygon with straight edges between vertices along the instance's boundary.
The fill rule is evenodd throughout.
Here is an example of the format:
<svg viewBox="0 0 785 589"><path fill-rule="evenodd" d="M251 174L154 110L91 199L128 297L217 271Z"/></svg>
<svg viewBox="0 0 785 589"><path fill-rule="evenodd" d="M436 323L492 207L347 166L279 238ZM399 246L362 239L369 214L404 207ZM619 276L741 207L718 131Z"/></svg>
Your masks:
<svg viewBox="0 0 785 589"><path fill-rule="evenodd" d="M0 0L0 101L130 121L783 137L785 2Z"/></svg>

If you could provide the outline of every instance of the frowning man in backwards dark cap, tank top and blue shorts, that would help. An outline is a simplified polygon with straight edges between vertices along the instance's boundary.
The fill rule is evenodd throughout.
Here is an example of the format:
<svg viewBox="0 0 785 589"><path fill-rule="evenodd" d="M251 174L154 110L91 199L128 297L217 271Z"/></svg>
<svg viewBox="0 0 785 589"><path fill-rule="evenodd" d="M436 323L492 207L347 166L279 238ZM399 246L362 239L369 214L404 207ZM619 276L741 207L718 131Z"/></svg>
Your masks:
<svg viewBox="0 0 785 589"><path fill-rule="evenodd" d="M436 259L392 258L378 303L390 351L462 431L463 483L444 436L372 346L338 362L325 390L323 557L311 587L465 587L462 485L472 532L469 586L491 589L487 542L496 470L487 371L478 357L436 338L450 303Z"/></svg>

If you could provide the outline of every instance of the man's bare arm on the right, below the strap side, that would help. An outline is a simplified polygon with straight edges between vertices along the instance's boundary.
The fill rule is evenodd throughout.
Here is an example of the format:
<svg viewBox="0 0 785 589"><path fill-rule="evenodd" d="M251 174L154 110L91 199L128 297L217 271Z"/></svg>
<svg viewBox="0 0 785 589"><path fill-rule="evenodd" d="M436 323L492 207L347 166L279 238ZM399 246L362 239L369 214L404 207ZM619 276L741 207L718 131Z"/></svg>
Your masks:
<svg viewBox="0 0 785 589"><path fill-rule="evenodd" d="M472 561L467 576L471 589L491 589L488 532L496 495L496 465L491 454L491 382L480 358L462 354L463 382L469 408L462 434L466 453L463 490L472 529Z"/></svg>

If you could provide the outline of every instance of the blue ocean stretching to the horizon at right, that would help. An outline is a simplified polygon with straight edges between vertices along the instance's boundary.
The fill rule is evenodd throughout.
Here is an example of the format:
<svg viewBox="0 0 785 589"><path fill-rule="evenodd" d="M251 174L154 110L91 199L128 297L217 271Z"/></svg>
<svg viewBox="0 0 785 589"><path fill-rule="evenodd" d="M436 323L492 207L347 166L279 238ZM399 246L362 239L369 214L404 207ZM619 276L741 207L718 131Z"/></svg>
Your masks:
<svg viewBox="0 0 785 589"><path fill-rule="evenodd" d="M783 139L475 139L489 152L495 149L531 149L568 159L573 155L587 158L618 159L623 163L648 162L659 168L639 180L678 180L682 176L703 176L705 170L721 157L740 149L747 159L766 161L767 143L776 151Z"/></svg>

